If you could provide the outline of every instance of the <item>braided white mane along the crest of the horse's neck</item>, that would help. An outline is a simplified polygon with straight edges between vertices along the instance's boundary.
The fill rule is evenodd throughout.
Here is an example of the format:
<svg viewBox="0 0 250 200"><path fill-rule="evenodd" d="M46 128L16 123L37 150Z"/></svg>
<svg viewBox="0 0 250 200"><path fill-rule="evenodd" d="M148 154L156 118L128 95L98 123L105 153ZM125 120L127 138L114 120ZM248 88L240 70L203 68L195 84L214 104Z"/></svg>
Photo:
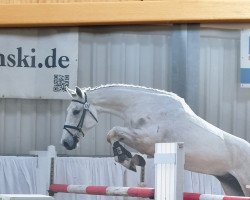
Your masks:
<svg viewBox="0 0 250 200"><path fill-rule="evenodd" d="M165 90L160 90L160 89L155 89L151 87L145 87L145 86L140 86L140 85L130 85L130 84L106 84L106 85L100 85L96 87L88 87L88 88L82 88L84 91L94 91L102 88L112 88L112 87L122 87L122 88L131 88L131 89L138 89L138 90L144 90L145 92L150 92L150 93L160 93L160 94L167 94L167 95L173 95L171 92L167 92Z"/></svg>

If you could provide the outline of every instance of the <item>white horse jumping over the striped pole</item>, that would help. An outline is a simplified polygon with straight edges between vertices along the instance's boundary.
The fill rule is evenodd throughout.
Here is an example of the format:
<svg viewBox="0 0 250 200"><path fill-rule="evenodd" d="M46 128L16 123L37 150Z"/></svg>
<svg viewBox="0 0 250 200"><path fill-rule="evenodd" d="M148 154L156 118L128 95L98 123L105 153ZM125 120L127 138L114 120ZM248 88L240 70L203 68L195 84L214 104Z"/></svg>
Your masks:
<svg viewBox="0 0 250 200"><path fill-rule="evenodd" d="M184 142L185 169L216 176L226 195L250 196L250 144L198 117L176 94L120 84L68 92L73 100L61 139L67 149L76 148L83 132L96 125L97 114L111 113L125 121L107 134L116 160L125 167L134 170L144 161L119 142L149 156L155 143Z"/></svg>

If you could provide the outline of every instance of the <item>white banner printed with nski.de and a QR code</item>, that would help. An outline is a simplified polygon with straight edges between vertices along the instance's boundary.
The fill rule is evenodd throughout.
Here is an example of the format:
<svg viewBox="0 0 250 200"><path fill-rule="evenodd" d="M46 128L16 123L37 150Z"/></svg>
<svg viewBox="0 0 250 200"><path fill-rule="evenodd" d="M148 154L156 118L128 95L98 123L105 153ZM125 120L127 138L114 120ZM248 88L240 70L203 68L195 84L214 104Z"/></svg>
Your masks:
<svg viewBox="0 0 250 200"><path fill-rule="evenodd" d="M0 98L68 99L77 68L77 28L0 30Z"/></svg>

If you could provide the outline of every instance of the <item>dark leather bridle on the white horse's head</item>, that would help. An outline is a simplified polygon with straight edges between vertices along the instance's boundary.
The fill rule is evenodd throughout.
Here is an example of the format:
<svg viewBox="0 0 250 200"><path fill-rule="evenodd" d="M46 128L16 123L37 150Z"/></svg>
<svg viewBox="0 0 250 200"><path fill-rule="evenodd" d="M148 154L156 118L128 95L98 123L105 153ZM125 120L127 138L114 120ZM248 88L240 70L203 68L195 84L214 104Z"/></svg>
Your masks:
<svg viewBox="0 0 250 200"><path fill-rule="evenodd" d="M82 115L81 115L81 118L80 118L80 121L79 123L77 124L77 126L72 126L72 125L64 125L63 126L63 129L65 129L73 138L74 140L77 140L78 141L78 138L80 137L80 135L76 134L74 135L73 133L70 132L70 129L74 129L74 130L77 130L79 133L82 134L82 136L84 137L84 133L83 133L83 130L82 130L82 126L83 126L83 122L84 122L84 118L86 116L86 112L88 111L90 113L90 115L94 118L94 120L98 123L98 120L96 119L96 117L94 116L94 114L89 110L89 102L87 101L87 94L84 93L84 96L85 96L85 101L82 102L82 101L79 101L79 100L76 100L76 99L73 99L72 101L73 102L77 102L77 103L80 103L80 104L83 104L83 112L82 112Z"/></svg>

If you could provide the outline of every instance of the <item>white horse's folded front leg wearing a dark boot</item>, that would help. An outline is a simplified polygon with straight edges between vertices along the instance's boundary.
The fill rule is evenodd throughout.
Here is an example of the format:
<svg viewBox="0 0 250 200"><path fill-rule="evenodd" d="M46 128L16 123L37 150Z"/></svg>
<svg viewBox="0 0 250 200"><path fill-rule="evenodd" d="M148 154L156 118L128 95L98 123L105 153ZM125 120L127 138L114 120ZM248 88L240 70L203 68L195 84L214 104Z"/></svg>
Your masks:
<svg viewBox="0 0 250 200"><path fill-rule="evenodd" d="M144 158L138 154L132 154L124 148L120 142L126 140L127 143L133 144L130 135L132 131L126 127L116 126L112 128L107 134L107 141L112 145L115 161L122 164L127 169L136 171L136 165L145 166Z"/></svg>

